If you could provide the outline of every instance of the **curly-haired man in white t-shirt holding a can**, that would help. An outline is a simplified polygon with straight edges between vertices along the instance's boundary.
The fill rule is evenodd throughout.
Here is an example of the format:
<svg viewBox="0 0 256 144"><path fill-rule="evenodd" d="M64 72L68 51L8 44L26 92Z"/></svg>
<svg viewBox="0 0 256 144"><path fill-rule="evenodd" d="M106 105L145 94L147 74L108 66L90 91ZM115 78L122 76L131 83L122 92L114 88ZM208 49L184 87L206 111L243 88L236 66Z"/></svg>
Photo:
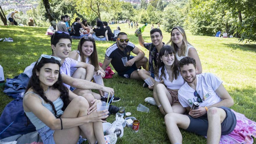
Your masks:
<svg viewBox="0 0 256 144"><path fill-rule="evenodd" d="M167 134L171 143L182 143L179 128L207 136L207 143L217 144L221 135L231 133L237 123L235 114L227 107L234 104L222 81L211 73L197 73L195 59L184 57L179 62L186 81L178 91L180 104L188 115L169 113L165 116ZM199 103L192 110L194 102ZM178 128L179 127L179 128Z"/></svg>

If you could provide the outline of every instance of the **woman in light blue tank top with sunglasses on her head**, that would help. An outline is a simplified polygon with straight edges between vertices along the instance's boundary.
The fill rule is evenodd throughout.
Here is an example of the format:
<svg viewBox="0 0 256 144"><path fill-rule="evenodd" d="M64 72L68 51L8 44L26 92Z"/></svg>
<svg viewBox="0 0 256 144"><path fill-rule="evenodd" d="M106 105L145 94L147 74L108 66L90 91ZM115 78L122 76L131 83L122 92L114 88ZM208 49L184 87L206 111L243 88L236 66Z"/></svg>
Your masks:
<svg viewBox="0 0 256 144"><path fill-rule="evenodd" d="M82 138L89 143L115 143L116 134L103 134L102 122L106 121L102 119L108 111L95 110L100 100L94 99L89 106L84 97L63 86L60 63L58 57L41 56L23 98L24 112L43 143L78 143Z"/></svg>

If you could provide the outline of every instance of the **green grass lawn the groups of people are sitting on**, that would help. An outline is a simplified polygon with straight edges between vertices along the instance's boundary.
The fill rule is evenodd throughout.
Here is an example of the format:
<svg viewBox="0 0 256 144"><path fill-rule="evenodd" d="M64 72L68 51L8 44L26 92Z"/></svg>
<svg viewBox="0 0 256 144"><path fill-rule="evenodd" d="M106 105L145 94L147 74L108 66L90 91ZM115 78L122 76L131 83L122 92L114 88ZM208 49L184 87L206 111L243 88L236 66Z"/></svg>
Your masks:
<svg viewBox="0 0 256 144"><path fill-rule="evenodd" d="M112 31L115 25L110 25ZM128 24L119 24L121 31L128 34L130 42L141 48L145 55L149 52L138 43L134 36L135 29L128 29ZM142 24L139 24L142 26ZM47 28L0 26L0 38L11 37L14 42L0 42L0 65L4 69L5 78L13 78L22 73L26 66L37 61L41 54L51 54L50 38L45 35ZM143 32L145 42L151 42L150 25ZM234 99L231 108L243 113L247 118L256 121L256 44L239 43L236 38L216 38L196 36L186 31L188 41L198 51L203 72L211 72L223 80L223 85ZM170 34L163 32L163 42L170 39ZM77 49L79 40L72 41L72 50ZM96 42L99 61L103 62L106 48L114 42ZM111 66L112 67L112 66ZM113 67L112 67L113 69ZM143 88L143 81L130 80L119 77L104 79L105 86L112 87L115 95L121 101L114 103L124 106L126 112L140 120L140 129L134 133L131 128L125 127L124 136L118 138L119 144L127 143L170 143L166 134L164 116L157 107L144 102L146 97L152 97L153 92ZM0 113L12 99L3 93L0 88ZM141 103L150 109L149 113L136 110ZM113 122L114 115L107 120ZM206 138L181 130L183 143L206 143Z"/></svg>

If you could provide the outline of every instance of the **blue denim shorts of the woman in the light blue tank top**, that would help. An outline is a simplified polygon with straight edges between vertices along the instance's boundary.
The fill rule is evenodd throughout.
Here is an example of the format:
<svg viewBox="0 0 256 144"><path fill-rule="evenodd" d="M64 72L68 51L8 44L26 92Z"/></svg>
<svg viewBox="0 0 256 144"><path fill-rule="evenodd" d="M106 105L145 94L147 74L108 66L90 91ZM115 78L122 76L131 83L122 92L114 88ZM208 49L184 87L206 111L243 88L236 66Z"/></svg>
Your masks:
<svg viewBox="0 0 256 144"><path fill-rule="evenodd" d="M38 129L37 132L40 134L44 144L55 144L53 138L54 130L51 130L48 126L45 126L41 129Z"/></svg>

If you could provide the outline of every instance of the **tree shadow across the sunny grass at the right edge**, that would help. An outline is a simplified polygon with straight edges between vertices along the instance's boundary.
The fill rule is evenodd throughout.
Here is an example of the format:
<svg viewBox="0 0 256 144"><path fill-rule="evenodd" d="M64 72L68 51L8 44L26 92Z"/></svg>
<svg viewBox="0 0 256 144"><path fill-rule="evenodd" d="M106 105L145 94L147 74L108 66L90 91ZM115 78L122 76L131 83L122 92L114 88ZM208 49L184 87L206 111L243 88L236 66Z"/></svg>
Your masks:
<svg viewBox="0 0 256 144"><path fill-rule="evenodd" d="M256 44L222 44L226 47L231 47L232 49L241 49L242 51L256 52Z"/></svg>

